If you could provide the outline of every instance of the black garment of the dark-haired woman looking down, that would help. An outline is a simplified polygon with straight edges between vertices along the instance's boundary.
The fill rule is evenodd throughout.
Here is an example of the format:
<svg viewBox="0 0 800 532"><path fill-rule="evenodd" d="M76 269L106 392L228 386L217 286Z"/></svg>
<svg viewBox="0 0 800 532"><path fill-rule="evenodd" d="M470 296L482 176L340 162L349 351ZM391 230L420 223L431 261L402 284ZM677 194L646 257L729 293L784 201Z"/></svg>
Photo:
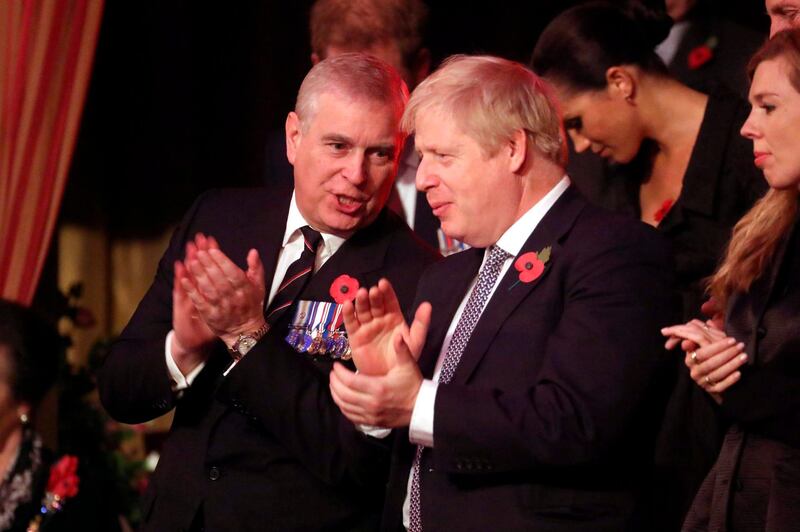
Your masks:
<svg viewBox="0 0 800 532"><path fill-rule="evenodd" d="M767 189L753 164L752 142L739 134L748 113L749 105L725 88L709 96L680 196L658 226L672 245L683 321L702 317L704 280L716 269L733 226ZM607 167L598 187L601 205L641 217L639 189L649 173L651 148L644 146L630 164ZM660 472L653 482L664 513L654 529L668 531L680 527L727 429L714 402L689 377L681 353L674 357L678 379L659 437Z"/></svg>

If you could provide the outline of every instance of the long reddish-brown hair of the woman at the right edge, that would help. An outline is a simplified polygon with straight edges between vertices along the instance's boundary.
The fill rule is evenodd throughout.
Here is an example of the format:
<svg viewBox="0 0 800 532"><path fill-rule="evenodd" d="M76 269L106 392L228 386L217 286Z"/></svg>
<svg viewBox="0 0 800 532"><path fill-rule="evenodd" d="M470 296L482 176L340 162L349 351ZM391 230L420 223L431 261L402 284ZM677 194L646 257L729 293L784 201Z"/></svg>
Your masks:
<svg viewBox="0 0 800 532"><path fill-rule="evenodd" d="M800 29L782 31L764 43L748 65L750 79L759 64L776 58L786 61L789 81L800 92ZM792 226L797 202L796 188L770 189L733 228L725 258L708 288L722 308L731 294L747 292L764 272Z"/></svg>

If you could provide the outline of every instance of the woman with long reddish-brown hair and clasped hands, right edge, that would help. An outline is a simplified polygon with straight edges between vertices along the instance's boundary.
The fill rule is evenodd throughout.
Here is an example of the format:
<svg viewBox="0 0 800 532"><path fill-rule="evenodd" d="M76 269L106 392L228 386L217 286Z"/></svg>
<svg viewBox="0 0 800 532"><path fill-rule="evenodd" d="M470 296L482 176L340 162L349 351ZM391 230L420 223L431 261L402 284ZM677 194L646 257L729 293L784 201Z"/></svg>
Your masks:
<svg viewBox="0 0 800 532"><path fill-rule="evenodd" d="M683 529L800 527L800 29L776 34L750 62L752 111L742 135L770 190L736 224L710 290L724 330L669 327L686 366L734 424Z"/></svg>

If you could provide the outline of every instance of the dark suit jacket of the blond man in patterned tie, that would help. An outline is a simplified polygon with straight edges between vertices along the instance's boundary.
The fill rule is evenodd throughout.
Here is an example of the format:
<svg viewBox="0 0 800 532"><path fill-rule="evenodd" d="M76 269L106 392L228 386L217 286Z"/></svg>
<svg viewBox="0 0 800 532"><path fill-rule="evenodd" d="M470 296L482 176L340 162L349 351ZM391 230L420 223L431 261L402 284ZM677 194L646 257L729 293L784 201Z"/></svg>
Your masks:
<svg viewBox="0 0 800 532"><path fill-rule="evenodd" d="M638 488L672 377L659 335L677 307L667 248L574 187L521 253L546 246L539 279L517 283L512 267L499 281L452 382L438 388L434 448L421 464L425 530L619 531L642 522ZM427 378L482 254L449 257L420 281L418 302L433 305L420 358ZM413 454L401 431L386 530L402 527Z"/></svg>

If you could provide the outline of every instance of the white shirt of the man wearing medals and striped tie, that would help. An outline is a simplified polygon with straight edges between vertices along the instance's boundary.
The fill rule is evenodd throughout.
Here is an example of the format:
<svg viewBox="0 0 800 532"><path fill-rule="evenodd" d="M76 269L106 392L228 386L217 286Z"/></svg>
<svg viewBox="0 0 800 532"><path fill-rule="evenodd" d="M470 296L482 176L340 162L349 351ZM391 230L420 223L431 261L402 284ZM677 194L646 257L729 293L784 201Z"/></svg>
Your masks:
<svg viewBox="0 0 800 532"><path fill-rule="evenodd" d="M278 292L278 287L283 281L283 277L286 275L286 270L288 270L289 266L291 266L294 261L299 259L300 255L303 253L304 239L303 233L300 232L300 228L306 225L311 224L309 224L300 213L300 209L297 207L297 200L294 192L292 192L292 201L289 205L289 215L286 218L286 229L283 232L283 244L281 247L281 252L278 255L278 264L275 267L275 274L272 277L272 284L267 299L267 306L269 306L269 303ZM322 265L325 264L325 262L339 250L346 240L345 238L329 233L320 234L322 235L322 242L317 248L317 256L314 261L314 272L318 271ZM267 257L261 257L262 261L267 259ZM178 365L175 363L175 360L172 358L170 345L173 334L175 334L175 331L170 331L169 334L167 334L166 346L164 350L166 353L169 376L174 383L172 389L174 391L180 391L188 388L192 384L192 381L195 379L195 377L197 377L200 371L202 371L205 363L198 365L189 374L183 375L181 370L178 369Z"/></svg>

